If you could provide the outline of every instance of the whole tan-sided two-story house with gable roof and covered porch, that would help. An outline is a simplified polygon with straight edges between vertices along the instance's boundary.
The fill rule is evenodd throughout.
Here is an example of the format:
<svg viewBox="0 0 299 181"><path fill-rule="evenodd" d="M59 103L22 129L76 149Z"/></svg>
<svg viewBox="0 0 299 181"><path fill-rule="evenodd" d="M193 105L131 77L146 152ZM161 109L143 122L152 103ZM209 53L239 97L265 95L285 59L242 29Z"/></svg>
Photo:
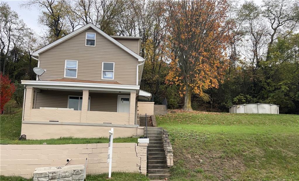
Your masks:
<svg viewBox="0 0 299 181"><path fill-rule="evenodd" d="M138 99L144 59L140 37L109 36L89 23L32 53L46 72L25 85L27 139L143 135Z"/></svg>

